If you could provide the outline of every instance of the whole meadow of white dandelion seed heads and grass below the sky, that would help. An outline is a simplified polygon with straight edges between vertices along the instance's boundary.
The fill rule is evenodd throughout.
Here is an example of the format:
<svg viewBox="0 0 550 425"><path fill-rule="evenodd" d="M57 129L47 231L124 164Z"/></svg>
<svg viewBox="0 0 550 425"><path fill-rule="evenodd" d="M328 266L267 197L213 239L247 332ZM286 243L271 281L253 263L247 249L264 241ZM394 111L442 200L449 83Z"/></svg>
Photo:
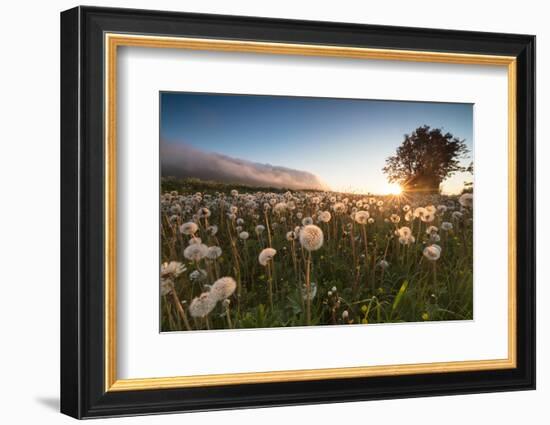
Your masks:
<svg viewBox="0 0 550 425"><path fill-rule="evenodd" d="M473 196L163 179L161 330L473 318Z"/></svg>

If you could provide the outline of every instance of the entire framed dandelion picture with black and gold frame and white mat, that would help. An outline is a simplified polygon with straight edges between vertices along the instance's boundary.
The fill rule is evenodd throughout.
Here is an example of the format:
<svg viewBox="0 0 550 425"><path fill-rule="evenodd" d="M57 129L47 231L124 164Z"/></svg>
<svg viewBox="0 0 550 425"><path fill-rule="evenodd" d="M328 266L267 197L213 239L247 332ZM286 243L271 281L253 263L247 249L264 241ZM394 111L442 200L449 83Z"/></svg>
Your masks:
<svg viewBox="0 0 550 425"><path fill-rule="evenodd" d="M61 14L61 411L535 388L535 37Z"/></svg>

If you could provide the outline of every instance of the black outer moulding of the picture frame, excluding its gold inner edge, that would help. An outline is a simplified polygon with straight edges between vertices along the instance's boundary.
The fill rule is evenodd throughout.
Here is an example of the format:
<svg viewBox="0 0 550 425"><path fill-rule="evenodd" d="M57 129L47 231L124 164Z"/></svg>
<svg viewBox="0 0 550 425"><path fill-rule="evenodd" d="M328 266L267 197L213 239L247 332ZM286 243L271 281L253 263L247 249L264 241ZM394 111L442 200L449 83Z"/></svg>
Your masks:
<svg viewBox="0 0 550 425"><path fill-rule="evenodd" d="M106 392L104 33L517 58L517 367L303 382ZM61 412L75 418L535 388L535 37L76 7L61 13Z"/></svg>

